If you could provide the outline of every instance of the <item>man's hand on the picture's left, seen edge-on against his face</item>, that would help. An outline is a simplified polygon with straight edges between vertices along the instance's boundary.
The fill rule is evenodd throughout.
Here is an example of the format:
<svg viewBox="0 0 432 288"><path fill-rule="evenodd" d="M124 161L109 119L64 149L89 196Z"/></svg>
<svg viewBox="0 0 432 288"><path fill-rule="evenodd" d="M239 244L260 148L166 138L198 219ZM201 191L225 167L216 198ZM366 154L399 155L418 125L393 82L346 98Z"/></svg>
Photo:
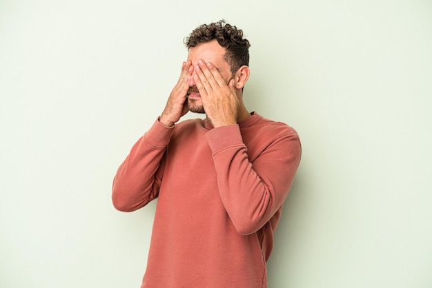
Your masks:
<svg viewBox="0 0 432 288"><path fill-rule="evenodd" d="M183 62L179 81L171 91L166 102L164 112L159 117L159 122L167 127L173 126L180 117L188 112L186 94L188 93L188 79L192 76L193 66L191 61Z"/></svg>

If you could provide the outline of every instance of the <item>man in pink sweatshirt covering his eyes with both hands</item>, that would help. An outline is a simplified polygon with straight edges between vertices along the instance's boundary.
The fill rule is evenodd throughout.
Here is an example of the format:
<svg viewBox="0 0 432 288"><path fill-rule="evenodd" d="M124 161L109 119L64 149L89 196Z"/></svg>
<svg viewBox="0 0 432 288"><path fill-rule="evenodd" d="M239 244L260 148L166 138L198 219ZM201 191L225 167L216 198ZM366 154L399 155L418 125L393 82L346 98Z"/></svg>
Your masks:
<svg viewBox="0 0 432 288"><path fill-rule="evenodd" d="M158 198L141 287L267 287L299 137L246 110L250 44L242 30L201 25L186 46L179 81L119 167L112 201L131 212ZM188 111L206 118L179 122Z"/></svg>

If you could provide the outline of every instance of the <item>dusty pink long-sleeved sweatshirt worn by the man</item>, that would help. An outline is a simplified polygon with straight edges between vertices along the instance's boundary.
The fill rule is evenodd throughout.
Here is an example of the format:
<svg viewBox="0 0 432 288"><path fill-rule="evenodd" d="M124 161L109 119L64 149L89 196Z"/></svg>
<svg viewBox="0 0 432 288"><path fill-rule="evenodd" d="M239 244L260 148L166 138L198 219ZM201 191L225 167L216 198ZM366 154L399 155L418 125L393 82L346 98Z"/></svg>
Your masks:
<svg viewBox="0 0 432 288"><path fill-rule="evenodd" d="M300 163L293 128L254 113L213 128L155 121L119 167L124 212L157 200L141 287L267 287L266 262Z"/></svg>

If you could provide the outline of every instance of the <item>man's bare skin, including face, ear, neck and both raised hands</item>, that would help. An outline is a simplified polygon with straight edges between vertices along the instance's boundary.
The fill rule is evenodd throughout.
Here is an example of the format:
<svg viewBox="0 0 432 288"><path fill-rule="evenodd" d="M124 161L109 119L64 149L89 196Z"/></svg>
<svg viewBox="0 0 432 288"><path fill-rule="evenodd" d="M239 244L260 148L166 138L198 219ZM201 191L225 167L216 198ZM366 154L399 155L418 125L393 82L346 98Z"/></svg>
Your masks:
<svg viewBox="0 0 432 288"><path fill-rule="evenodd" d="M188 111L205 112L213 127L233 125L251 116L242 93L249 68L244 65L233 74L224 60L225 52L216 40L190 48L159 117L162 125L173 126Z"/></svg>

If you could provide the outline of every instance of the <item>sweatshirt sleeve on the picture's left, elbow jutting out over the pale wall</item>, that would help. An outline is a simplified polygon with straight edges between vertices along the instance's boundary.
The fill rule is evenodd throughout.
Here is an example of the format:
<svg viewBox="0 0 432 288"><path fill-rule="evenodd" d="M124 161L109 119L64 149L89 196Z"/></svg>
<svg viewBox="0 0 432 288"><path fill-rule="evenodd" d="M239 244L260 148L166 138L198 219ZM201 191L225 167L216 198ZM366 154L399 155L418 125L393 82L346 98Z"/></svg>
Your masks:
<svg viewBox="0 0 432 288"><path fill-rule="evenodd" d="M112 183L112 203L116 209L132 212L157 197L164 152L172 133L173 127L165 127L157 120L133 145Z"/></svg>

